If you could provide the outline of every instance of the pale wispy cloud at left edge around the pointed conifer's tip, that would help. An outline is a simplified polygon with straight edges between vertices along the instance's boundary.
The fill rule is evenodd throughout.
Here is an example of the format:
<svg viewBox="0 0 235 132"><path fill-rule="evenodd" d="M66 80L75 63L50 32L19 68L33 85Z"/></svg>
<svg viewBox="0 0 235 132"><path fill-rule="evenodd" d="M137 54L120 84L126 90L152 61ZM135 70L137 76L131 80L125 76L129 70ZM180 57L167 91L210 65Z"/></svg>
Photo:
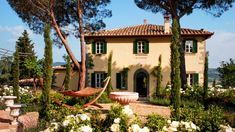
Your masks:
<svg viewBox="0 0 235 132"><path fill-rule="evenodd" d="M0 34L9 34L10 37L7 40L8 42L15 42L22 34L24 30L27 30L30 37L33 37L33 32L21 25L17 26L1 26L0 25Z"/></svg>

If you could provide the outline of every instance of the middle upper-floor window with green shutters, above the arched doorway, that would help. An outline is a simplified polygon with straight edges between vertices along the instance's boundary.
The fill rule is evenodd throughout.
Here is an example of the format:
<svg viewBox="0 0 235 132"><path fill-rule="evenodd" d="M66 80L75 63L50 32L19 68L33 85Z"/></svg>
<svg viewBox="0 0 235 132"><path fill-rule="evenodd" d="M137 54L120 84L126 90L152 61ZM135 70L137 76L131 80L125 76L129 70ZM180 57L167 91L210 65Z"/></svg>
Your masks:
<svg viewBox="0 0 235 132"><path fill-rule="evenodd" d="M147 40L136 40L133 44L134 54L148 54L149 53L149 42Z"/></svg>

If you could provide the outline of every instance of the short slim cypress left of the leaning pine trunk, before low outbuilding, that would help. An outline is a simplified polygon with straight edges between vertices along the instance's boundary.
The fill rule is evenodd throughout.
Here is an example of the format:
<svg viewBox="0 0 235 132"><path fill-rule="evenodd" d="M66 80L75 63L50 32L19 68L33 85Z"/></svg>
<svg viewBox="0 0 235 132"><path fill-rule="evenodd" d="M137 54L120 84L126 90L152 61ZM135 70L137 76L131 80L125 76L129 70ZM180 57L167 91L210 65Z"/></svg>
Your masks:
<svg viewBox="0 0 235 132"><path fill-rule="evenodd" d="M70 57L67 55L65 56L66 60L66 74L65 74L65 79L64 79L64 88L65 90L69 89L69 83L70 83L70 72L71 72L71 62L70 62Z"/></svg>

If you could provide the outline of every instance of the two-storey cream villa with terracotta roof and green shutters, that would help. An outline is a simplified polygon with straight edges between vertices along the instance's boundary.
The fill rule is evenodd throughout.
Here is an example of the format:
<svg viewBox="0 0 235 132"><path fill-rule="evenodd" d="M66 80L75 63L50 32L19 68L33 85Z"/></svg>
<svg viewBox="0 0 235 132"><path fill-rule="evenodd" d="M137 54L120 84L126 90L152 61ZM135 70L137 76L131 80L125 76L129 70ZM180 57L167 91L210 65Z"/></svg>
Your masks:
<svg viewBox="0 0 235 132"><path fill-rule="evenodd" d="M181 28L185 49L188 85L203 84L206 40L209 31ZM170 18L164 25L144 24L103 30L86 34L87 53L91 54L94 67L88 69L88 84L101 87L107 74L108 56L112 52L111 83L115 91L135 91L150 97L156 91L156 77L151 75L158 58L162 56L163 87L170 82Z"/></svg>

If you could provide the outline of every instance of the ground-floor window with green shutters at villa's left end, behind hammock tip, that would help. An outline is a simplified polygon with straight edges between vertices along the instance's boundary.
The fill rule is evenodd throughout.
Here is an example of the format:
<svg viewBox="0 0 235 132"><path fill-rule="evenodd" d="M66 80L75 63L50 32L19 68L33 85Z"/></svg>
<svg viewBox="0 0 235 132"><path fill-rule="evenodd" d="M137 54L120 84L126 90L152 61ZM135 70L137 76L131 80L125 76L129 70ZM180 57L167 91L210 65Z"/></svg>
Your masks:
<svg viewBox="0 0 235 132"><path fill-rule="evenodd" d="M104 72L95 72L91 74L91 86L92 87L103 87L103 81L106 77Z"/></svg>

